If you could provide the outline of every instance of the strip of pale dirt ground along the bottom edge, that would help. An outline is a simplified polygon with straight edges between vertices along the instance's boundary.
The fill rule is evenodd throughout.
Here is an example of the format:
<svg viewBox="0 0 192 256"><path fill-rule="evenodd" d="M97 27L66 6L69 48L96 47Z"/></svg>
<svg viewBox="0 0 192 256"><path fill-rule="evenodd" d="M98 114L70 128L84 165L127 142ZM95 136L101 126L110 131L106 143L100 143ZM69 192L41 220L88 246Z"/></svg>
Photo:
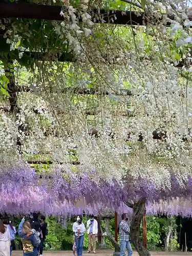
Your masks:
<svg viewBox="0 0 192 256"><path fill-rule="evenodd" d="M93 256L95 254L92 253L87 253L85 251L83 255L90 255ZM113 251L112 250L98 250L97 251L97 256L112 256ZM127 255L127 254L126 254ZM184 256L184 255L192 255L192 252L152 252L152 256ZM12 256L23 256L22 251L13 251ZM44 252L44 256L73 256L72 251L51 251L51 252ZM136 252L133 253L133 256L138 256Z"/></svg>

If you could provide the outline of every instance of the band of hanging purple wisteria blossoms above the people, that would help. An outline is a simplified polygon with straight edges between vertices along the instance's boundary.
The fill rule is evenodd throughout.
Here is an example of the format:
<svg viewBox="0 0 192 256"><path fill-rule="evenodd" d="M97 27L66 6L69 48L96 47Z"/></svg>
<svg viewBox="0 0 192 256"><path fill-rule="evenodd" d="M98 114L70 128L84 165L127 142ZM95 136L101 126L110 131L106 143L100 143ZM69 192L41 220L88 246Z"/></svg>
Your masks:
<svg viewBox="0 0 192 256"><path fill-rule="evenodd" d="M127 181L126 181L127 182ZM149 180L138 178L135 185L120 184L113 180L111 183L100 179L96 181L88 174L81 176L65 173L65 176L53 172L49 176L36 174L33 168L26 164L1 168L0 211L7 214L29 214L40 211L47 215L74 215L83 210L102 214L110 210L128 211L131 209L123 203L127 199L137 200L147 198L147 213L169 215L192 214L189 202L192 193L192 180L181 186L177 177L171 177L171 187L159 190ZM167 201L167 198L172 200ZM178 198L182 198L179 200Z"/></svg>

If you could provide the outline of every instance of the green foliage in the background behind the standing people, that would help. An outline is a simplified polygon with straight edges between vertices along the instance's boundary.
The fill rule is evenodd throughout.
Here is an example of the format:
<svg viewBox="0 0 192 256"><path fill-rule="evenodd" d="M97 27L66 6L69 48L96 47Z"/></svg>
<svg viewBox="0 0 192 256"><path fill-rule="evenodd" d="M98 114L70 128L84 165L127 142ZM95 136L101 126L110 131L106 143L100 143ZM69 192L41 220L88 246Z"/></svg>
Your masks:
<svg viewBox="0 0 192 256"><path fill-rule="evenodd" d="M20 223L20 218L14 218L14 224L18 230L18 225ZM164 250L164 242L166 239L166 232L169 225L172 223L172 233L173 236L169 239L169 251L177 251L179 249L179 244L177 242L177 225L176 218L158 218L153 216L147 216L147 249L148 250ZM54 217L49 217L46 219L48 223L48 236L45 240L45 250L72 250L74 236L72 231L73 223L69 220L67 221L67 228L63 228L61 223ZM83 216L82 222L87 225L87 217ZM101 228L104 231L104 220L101 220ZM113 236L115 236L115 219L110 220L110 230ZM140 238L142 239L142 225L140 226ZM15 244L22 248L22 243L15 236ZM114 249L110 240L105 237L105 246ZM88 248L88 234L84 233L84 244L83 249ZM133 245L132 248L134 249Z"/></svg>

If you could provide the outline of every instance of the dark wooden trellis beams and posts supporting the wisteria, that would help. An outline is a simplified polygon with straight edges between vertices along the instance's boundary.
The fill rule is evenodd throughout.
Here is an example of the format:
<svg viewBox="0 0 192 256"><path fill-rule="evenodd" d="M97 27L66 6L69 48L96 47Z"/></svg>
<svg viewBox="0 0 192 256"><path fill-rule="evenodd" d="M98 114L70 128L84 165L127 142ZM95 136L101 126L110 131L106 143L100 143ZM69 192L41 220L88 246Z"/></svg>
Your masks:
<svg viewBox="0 0 192 256"><path fill-rule="evenodd" d="M1 18L31 18L31 19L47 19L47 20L63 20L63 17L60 15L61 7L59 6L47 6L47 5L35 5L35 4L24 4L24 3L0 3L0 17ZM78 15L78 13L76 13ZM148 23L157 24L157 19L155 17L151 17L150 14L139 12L130 12L130 11L119 11L119 10L93 10L91 16L96 17L95 23L107 23L107 24L120 24L120 25L140 25L145 26ZM175 17L168 16L169 19L174 20ZM191 17L188 17L191 20ZM79 17L79 22L81 22L81 18ZM167 27L170 26L170 23L165 24ZM38 53L38 52L25 52L24 55L30 56L32 59L36 59L42 61L45 59L46 53ZM3 57L3 56L2 56ZM1 56L0 56L1 58ZM58 61L75 61L72 54L63 53L61 56L56 54L56 58ZM177 67L182 67L185 65L185 60L179 62ZM9 83L8 90L12 93L12 98L10 100L11 111L13 112L16 106L16 92L18 89L15 87L14 82ZM80 92L77 92L80 93ZM91 91L84 91L81 94L91 94ZM107 94L105 92L104 94ZM127 95L131 95L127 93ZM12 102L12 103L11 103ZM52 161L48 161L49 164L52 164ZM28 161L28 163L35 164L47 164L47 161ZM60 163L62 164L62 163ZM79 162L72 162L72 164L80 164ZM115 214L115 218L116 218ZM115 227L115 239L117 240L117 219L115 219L116 227ZM146 248L146 218L143 217L143 245Z"/></svg>

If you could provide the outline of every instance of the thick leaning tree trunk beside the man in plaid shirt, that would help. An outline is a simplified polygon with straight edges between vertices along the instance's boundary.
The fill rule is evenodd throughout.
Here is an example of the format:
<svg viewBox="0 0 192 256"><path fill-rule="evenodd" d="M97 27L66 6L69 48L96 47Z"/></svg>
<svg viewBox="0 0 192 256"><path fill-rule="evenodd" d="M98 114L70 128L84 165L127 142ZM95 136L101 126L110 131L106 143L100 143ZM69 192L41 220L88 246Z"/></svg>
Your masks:
<svg viewBox="0 0 192 256"><path fill-rule="evenodd" d="M133 216L130 226L131 239L139 256L151 256L150 252L143 247L142 240L139 238L140 224L145 212L145 198L142 198L133 205Z"/></svg>

